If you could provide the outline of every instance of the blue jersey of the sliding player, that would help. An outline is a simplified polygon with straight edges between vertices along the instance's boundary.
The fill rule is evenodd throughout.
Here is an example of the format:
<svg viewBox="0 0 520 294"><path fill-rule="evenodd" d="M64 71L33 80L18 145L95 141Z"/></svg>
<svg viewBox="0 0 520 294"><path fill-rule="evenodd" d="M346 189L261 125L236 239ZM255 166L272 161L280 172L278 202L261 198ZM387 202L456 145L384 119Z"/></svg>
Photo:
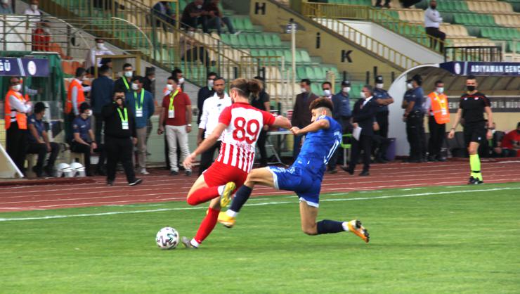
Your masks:
<svg viewBox="0 0 520 294"><path fill-rule="evenodd" d="M294 165L310 165L311 170L323 176L325 166L342 141L342 126L332 117L322 115L317 120L328 120L330 127L305 136L304 146Z"/></svg>

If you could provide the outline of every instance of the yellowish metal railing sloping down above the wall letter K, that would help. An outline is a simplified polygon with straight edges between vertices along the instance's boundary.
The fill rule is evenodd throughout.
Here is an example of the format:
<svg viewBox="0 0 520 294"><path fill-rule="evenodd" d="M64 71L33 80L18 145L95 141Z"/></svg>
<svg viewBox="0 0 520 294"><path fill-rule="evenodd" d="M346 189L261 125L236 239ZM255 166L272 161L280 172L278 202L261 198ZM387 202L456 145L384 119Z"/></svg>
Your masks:
<svg viewBox="0 0 520 294"><path fill-rule="evenodd" d="M308 3L304 1L301 4L301 11L303 15L310 18L370 20L437 53L442 53L441 46L446 43L426 34L424 27L406 23L394 18L384 10L372 6Z"/></svg>

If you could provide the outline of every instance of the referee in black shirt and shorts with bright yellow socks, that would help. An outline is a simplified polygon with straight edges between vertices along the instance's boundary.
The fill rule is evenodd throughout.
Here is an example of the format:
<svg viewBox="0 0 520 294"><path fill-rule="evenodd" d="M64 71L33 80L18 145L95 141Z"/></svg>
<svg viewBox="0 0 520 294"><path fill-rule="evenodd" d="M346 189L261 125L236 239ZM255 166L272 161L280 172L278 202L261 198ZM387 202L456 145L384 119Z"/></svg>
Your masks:
<svg viewBox="0 0 520 294"><path fill-rule="evenodd" d="M480 169L479 145L485 140L493 138L493 113L491 113L491 103L486 97L476 89L476 79L473 75L469 75L466 79L467 92L460 97L459 110L455 115L455 122L450 129L448 138L453 139L455 136L455 128L461 122L464 128L464 141L468 146L469 167L471 174L468 184L483 184L482 173ZM488 122L484 120L483 113L488 116Z"/></svg>

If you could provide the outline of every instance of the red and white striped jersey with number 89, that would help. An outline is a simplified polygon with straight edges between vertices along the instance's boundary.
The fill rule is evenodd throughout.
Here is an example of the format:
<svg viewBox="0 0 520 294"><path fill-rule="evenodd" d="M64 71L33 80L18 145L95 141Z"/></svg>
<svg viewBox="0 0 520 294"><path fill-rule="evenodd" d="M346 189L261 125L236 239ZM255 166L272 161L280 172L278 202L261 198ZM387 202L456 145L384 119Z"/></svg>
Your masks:
<svg viewBox="0 0 520 294"><path fill-rule="evenodd" d="M219 122L226 124L221 136L217 162L249 172L254 163L256 141L264 125L271 126L275 117L247 103L233 103L222 110Z"/></svg>

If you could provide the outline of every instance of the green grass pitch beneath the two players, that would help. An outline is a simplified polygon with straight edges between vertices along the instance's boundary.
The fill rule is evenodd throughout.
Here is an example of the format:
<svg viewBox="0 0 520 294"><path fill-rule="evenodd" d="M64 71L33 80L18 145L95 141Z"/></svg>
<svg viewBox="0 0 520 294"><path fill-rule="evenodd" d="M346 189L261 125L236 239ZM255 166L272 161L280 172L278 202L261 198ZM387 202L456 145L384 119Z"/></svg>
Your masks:
<svg viewBox="0 0 520 294"><path fill-rule="evenodd" d="M520 183L321 200L318 219L359 218L370 243L304 235L296 196L250 199L199 250L154 238L163 226L193 236L205 205L1 213L0 293L520 292Z"/></svg>

